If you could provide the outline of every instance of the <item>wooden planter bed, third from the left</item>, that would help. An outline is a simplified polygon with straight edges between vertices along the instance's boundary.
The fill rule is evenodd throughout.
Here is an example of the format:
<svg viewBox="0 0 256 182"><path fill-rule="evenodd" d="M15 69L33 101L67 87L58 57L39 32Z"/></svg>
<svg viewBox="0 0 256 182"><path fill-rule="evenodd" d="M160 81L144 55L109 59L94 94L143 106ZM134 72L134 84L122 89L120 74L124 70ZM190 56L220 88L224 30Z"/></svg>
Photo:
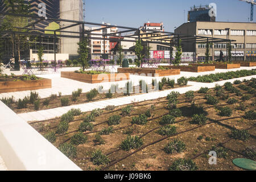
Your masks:
<svg viewBox="0 0 256 182"><path fill-rule="evenodd" d="M117 68L118 73L145 74L145 76L180 75L180 69L154 69L154 68Z"/></svg>

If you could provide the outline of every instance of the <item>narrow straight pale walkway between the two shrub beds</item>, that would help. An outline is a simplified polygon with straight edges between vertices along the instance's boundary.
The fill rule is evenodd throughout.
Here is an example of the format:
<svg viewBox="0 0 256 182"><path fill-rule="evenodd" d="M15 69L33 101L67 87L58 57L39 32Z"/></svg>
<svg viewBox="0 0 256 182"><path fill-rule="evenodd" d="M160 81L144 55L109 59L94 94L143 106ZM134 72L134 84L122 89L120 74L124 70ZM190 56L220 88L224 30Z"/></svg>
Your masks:
<svg viewBox="0 0 256 182"><path fill-rule="evenodd" d="M113 98L109 100L104 101L97 101L97 102L89 102L85 104L79 104L79 105L73 105L73 106L66 106L66 107L58 107L55 109L48 109L48 110L40 110L40 111L34 111L30 113L22 113L18 114L19 117L24 119L24 121L31 122L31 121L43 121L45 119L52 119L56 117L60 117L62 114L67 113L68 110L75 108L75 109L81 109L82 112L86 111L92 111L93 109L103 109L104 107L108 105L114 105L114 106L121 106L125 104L133 104L133 102L140 102L140 101L147 101L157 98L166 97L170 92L175 91L179 92L180 94L183 94L189 90L197 91L201 87L208 87L213 88L216 84L218 85L224 85L225 82L234 82L235 80L250 80L251 78L256 78L256 76L247 76L247 77L241 77L241 78L234 78L232 80L224 80L224 81L218 81L213 83L201 83L201 82L188 82L188 87L184 88L176 88L176 89L170 89L170 90L164 90L161 92L152 92L152 93L145 93L140 94L138 96L127 96L122 98Z"/></svg>

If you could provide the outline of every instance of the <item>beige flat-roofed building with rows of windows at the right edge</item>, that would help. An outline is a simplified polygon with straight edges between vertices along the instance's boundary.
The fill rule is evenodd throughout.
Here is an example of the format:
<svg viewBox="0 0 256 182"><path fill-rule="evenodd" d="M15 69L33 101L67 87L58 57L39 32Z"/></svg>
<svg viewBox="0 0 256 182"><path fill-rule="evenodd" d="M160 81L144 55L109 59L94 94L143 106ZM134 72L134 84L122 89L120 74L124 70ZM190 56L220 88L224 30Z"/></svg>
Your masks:
<svg viewBox="0 0 256 182"><path fill-rule="evenodd" d="M190 22L176 28L175 33L235 40L232 42L233 60L256 60L256 23ZM220 50L225 56L226 46L226 42L210 45L212 60L218 59ZM195 52L197 59L204 60L206 43L185 44L183 45L183 51Z"/></svg>

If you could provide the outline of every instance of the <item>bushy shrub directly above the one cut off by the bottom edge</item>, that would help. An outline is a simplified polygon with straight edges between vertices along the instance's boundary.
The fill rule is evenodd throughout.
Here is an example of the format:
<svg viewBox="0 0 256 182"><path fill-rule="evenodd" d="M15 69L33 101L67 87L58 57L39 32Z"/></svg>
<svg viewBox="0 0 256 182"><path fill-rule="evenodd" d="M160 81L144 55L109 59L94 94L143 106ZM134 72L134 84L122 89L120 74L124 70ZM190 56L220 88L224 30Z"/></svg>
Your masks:
<svg viewBox="0 0 256 182"><path fill-rule="evenodd" d="M185 143L183 141L175 139L172 142L168 142L166 146L164 146L163 150L167 154L179 154L184 151L185 148Z"/></svg>

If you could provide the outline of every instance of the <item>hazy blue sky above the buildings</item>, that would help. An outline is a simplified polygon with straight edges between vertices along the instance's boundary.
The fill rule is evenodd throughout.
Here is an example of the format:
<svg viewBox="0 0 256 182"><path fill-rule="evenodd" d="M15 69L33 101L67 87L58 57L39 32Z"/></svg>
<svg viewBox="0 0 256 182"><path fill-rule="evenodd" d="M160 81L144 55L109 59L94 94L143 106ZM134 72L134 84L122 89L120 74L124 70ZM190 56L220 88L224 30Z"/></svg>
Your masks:
<svg viewBox="0 0 256 182"><path fill-rule="evenodd" d="M86 0L86 22L108 22L119 26L140 27L144 22L163 22L166 31L187 21L187 14L193 5L217 5L217 21L248 22L250 4L238 0ZM254 22L256 22L256 5Z"/></svg>

